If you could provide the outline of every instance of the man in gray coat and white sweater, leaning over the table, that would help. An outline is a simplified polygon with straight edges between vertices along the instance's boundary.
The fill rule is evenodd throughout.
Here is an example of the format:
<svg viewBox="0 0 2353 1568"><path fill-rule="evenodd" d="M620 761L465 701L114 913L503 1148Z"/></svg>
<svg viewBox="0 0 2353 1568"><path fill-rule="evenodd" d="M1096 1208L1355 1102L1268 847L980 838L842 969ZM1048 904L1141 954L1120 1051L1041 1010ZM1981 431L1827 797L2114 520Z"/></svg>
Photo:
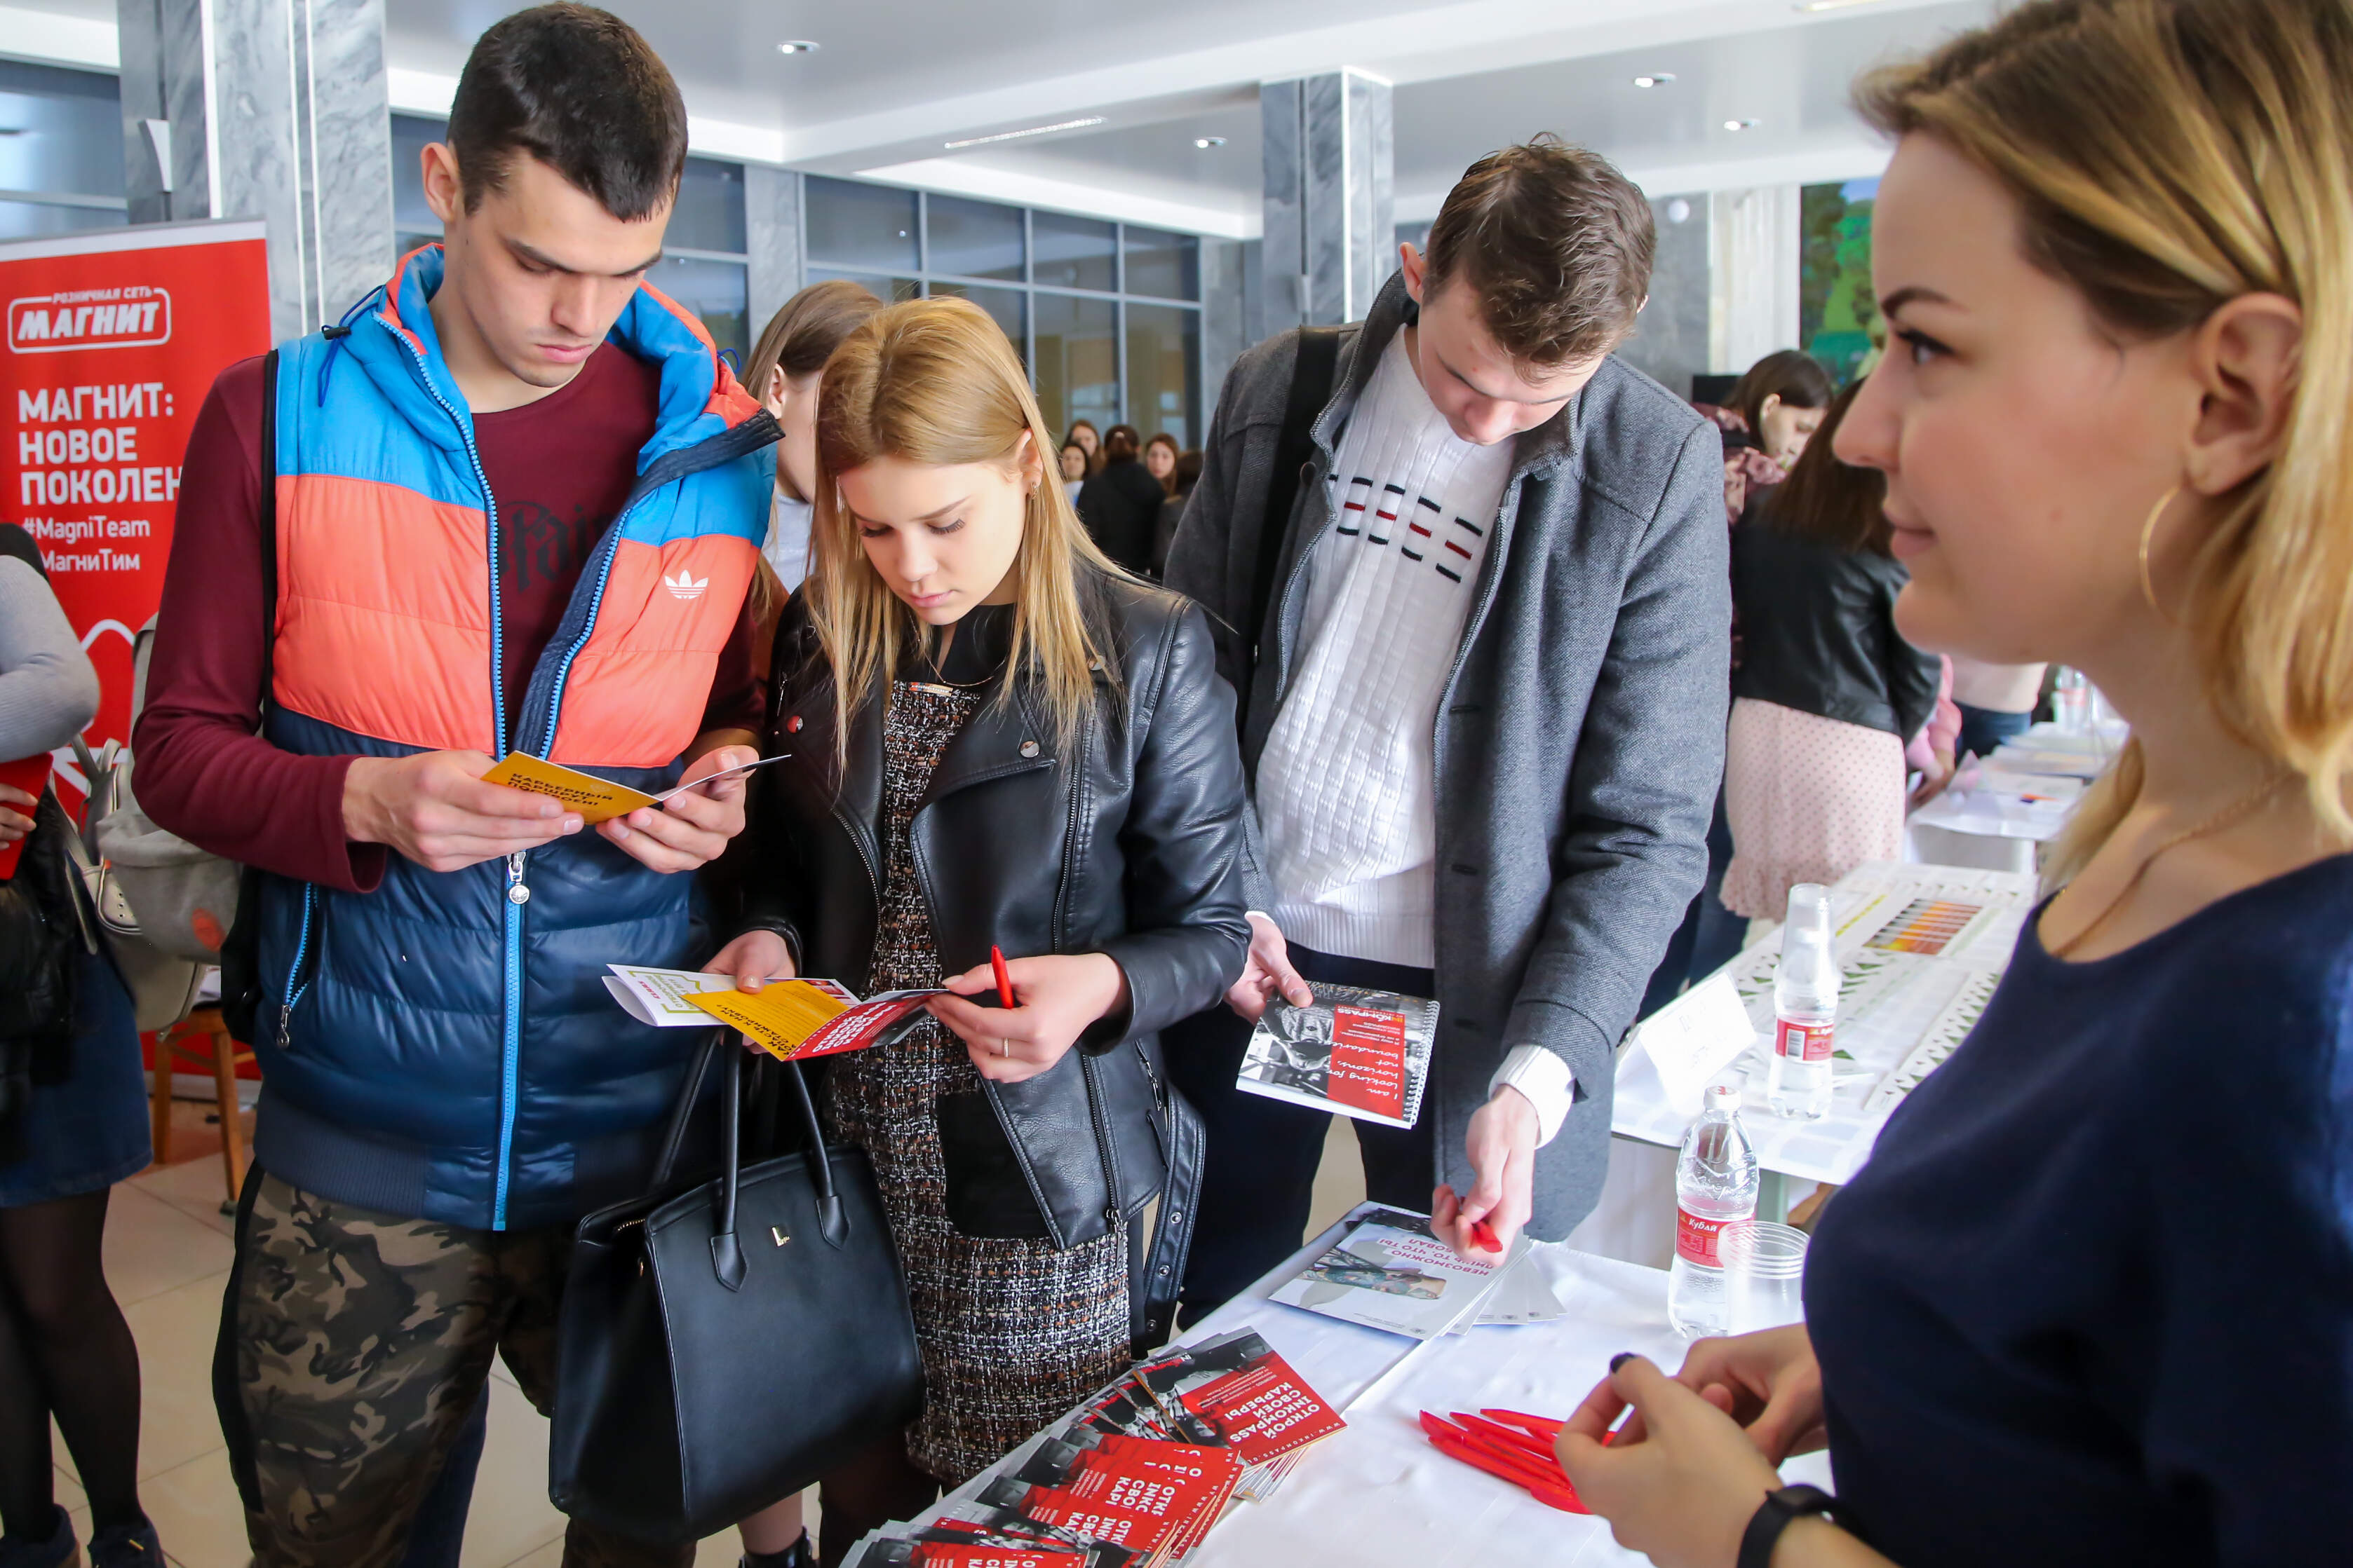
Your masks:
<svg viewBox="0 0 2353 1568"><path fill-rule="evenodd" d="M1440 1004L1417 1126L1355 1126L1377 1201L1466 1253L1475 1222L1508 1248L1593 1208L1614 1048L1706 877L1725 762L1722 444L1609 353L1652 247L1605 160L1506 148L1337 329L1306 442L1294 416L1282 451L1294 369L1329 346L1287 331L1226 378L1167 567L1219 625L1257 816L1233 1013L1165 1039L1209 1124L1193 1316L1306 1225L1329 1117L1233 1086L1278 990Z"/></svg>

